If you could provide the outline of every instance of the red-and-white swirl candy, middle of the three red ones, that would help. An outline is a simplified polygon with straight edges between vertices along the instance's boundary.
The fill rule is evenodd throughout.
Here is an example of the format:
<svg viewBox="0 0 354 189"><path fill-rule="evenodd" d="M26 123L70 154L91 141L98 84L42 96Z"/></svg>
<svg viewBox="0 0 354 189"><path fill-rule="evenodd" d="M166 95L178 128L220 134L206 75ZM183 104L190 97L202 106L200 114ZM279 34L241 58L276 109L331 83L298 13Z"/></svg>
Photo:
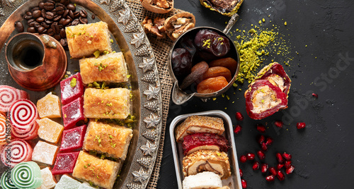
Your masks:
<svg viewBox="0 0 354 189"><path fill-rule="evenodd" d="M10 109L12 126L23 132L29 131L38 118L37 107L28 99L19 99L13 102Z"/></svg>

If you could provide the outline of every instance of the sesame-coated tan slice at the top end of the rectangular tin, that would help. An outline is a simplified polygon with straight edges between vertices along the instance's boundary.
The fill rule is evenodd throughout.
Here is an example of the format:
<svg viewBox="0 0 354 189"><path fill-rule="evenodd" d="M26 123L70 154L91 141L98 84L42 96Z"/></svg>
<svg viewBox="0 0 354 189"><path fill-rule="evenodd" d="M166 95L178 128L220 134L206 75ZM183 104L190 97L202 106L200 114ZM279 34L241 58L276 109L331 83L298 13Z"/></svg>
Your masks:
<svg viewBox="0 0 354 189"><path fill-rule="evenodd" d="M222 135L224 133L224 121L222 118L209 116L190 116L177 126L175 137L177 142L182 142L183 138L193 133L215 133Z"/></svg>

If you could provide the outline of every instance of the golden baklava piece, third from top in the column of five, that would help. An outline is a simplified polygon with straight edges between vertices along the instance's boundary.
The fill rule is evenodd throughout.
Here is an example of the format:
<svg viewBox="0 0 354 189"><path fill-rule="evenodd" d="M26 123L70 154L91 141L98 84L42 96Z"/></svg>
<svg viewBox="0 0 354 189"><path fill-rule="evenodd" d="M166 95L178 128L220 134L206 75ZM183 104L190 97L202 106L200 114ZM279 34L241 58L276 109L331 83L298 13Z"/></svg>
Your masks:
<svg viewBox="0 0 354 189"><path fill-rule="evenodd" d="M84 93L86 118L127 118L130 114L130 90L87 88Z"/></svg>

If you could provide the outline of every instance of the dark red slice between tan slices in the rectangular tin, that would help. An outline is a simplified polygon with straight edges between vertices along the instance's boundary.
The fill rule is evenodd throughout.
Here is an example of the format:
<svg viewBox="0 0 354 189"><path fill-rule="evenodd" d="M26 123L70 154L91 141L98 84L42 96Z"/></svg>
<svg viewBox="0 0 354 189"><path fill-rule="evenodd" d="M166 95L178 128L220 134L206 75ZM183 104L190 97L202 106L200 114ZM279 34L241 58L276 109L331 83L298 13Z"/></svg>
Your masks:
<svg viewBox="0 0 354 189"><path fill-rule="evenodd" d="M187 155L193 148L207 145L215 145L219 147L219 151L221 152L227 152L227 150L229 150L227 139L222 135L215 133L194 133L192 135L186 135L183 138L183 154Z"/></svg>

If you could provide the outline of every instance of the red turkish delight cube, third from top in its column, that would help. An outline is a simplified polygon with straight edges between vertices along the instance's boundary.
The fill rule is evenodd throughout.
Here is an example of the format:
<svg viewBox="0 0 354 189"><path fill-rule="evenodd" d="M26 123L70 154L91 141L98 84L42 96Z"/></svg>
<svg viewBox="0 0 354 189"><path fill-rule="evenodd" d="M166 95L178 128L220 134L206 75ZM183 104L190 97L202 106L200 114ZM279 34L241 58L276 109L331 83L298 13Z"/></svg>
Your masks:
<svg viewBox="0 0 354 189"><path fill-rule="evenodd" d="M62 144L60 145L60 152L70 152L82 147L86 133L86 126L79 126L64 130L62 134Z"/></svg>

